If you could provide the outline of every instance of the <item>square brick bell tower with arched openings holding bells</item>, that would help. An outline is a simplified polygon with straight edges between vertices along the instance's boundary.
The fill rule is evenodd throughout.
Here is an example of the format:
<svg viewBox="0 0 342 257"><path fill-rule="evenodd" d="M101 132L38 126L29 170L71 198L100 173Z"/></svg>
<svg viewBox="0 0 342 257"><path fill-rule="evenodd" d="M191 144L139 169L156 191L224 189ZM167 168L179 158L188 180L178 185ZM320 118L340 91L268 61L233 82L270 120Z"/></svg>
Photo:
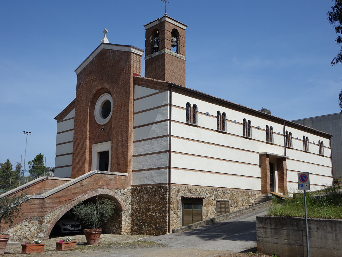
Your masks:
<svg viewBox="0 0 342 257"><path fill-rule="evenodd" d="M145 77L185 86L186 25L164 15L144 25Z"/></svg>

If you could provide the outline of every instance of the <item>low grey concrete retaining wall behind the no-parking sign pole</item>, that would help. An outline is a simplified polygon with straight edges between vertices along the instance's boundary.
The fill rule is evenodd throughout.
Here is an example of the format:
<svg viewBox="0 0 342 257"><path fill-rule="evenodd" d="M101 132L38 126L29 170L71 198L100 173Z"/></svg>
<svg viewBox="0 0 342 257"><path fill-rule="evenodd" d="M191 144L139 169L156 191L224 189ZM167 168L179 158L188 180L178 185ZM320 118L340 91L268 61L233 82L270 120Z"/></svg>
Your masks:
<svg viewBox="0 0 342 257"><path fill-rule="evenodd" d="M342 256L342 220L308 219L310 256ZM257 217L257 250L281 257L306 254L305 219Z"/></svg>

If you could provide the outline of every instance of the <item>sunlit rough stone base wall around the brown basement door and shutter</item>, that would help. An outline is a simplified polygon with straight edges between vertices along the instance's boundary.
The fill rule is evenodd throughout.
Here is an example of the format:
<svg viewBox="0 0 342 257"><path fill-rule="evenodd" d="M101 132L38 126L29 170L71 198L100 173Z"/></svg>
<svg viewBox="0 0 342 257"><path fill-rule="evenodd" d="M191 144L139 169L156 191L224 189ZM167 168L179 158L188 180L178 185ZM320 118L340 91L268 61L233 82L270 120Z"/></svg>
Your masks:
<svg viewBox="0 0 342 257"><path fill-rule="evenodd" d="M230 211L246 208L260 191L171 185L171 229L182 227L181 196L192 195L203 198L203 220L216 217L216 200L230 200Z"/></svg>

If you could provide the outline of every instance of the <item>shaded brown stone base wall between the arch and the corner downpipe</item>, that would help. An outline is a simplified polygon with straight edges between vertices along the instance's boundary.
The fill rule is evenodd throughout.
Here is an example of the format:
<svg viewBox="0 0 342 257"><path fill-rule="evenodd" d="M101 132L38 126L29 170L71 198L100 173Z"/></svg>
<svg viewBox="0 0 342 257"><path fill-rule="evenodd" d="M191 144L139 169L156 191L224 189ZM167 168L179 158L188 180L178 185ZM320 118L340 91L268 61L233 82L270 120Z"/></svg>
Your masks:
<svg viewBox="0 0 342 257"><path fill-rule="evenodd" d="M168 186L132 187L131 233L168 233Z"/></svg>

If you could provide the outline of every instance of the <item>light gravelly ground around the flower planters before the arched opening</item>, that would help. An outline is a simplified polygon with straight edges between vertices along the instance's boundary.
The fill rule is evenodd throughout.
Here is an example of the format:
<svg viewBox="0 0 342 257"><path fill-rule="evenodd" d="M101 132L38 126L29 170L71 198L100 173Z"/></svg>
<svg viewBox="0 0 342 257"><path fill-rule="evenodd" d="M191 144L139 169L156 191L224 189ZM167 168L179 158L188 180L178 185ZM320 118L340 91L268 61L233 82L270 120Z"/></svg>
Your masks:
<svg viewBox="0 0 342 257"><path fill-rule="evenodd" d="M67 251L56 251L56 242L65 239L64 237L55 237L49 240L44 240L45 244L44 253L31 254L31 256L45 256L45 257L175 257L175 256L187 256L187 257L248 257L259 256L268 257L263 254L252 253L234 253L227 251L212 251L212 250L200 250L194 248L181 248L175 249L163 244L158 244L153 241L138 241L141 238L146 238L146 235L101 235L100 243L98 245L88 246L84 235L71 236L73 240L76 240L76 249ZM21 253L21 244L7 245L6 256L14 257L27 257L28 254Z"/></svg>

